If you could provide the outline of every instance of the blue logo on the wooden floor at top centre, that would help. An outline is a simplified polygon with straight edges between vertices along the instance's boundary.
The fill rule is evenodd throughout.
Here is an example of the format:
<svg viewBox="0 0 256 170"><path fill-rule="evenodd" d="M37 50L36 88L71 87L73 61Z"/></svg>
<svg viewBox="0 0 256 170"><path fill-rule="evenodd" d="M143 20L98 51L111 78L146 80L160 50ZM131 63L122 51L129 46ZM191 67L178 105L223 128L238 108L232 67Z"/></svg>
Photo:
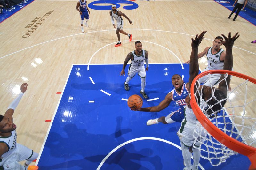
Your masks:
<svg viewBox="0 0 256 170"><path fill-rule="evenodd" d="M100 4L100 5L97 5ZM102 4L115 4L116 9L119 8L121 5L120 4L129 4L127 6L124 6L123 8L125 10L134 10L139 7L138 4L132 1L127 1L127 0L100 0L100 1L94 1L88 4L88 7L93 9L93 10L111 10L111 5L102 5Z"/></svg>

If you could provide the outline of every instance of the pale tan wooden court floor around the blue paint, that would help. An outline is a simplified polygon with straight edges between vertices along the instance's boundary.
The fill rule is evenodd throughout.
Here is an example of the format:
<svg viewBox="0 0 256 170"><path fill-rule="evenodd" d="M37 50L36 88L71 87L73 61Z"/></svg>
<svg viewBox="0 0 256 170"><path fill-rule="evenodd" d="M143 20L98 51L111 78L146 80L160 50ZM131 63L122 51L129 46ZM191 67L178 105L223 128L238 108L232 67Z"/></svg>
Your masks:
<svg viewBox="0 0 256 170"><path fill-rule="evenodd" d="M88 4L91 2L88 0ZM134 2L139 5L134 10L125 10L120 4L119 10L133 22L130 25L124 18L124 31L131 33L133 40L142 41L143 49L149 52L149 63L187 61L191 38L203 30L207 33L199 51L211 47L213 39L222 33L239 32L233 47L233 70L255 78L256 46L250 42L256 39L256 28L251 23L239 16L235 22L228 19L230 11L211 0ZM117 37L109 10L90 9L89 27L84 26L82 33L76 3L35 0L0 24L1 114L17 97L20 85L28 82L28 90L14 112L14 123L18 142L35 152L40 152L50 125L45 120L52 119L60 98L56 93L62 92L72 64L123 63L134 50L135 41L129 42L123 34L122 46L114 47ZM46 14L42 24L23 38L28 26ZM206 65L206 58L200 59L200 69ZM231 82L231 87L234 84ZM250 95L255 93L252 90ZM239 95L237 92L238 99ZM253 108L250 114L256 117Z"/></svg>

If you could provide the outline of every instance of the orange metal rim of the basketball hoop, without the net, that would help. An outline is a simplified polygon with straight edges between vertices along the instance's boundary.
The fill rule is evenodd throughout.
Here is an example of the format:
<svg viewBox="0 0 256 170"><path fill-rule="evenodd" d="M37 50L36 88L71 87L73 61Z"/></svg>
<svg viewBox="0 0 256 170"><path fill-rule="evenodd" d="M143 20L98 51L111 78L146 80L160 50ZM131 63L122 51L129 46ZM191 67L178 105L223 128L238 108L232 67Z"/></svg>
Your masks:
<svg viewBox="0 0 256 170"><path fill-rule="evenodd" d="M196 115L196 118L198 119L198 121L202 124L202 126L204 127L204 129L207 130L208 133L210 133L215 139L217 139L220 143L224 144L226 147L228 147L229 149L238 152L242 155L247 156L252 165L250 166L250 169L256 169L256 148L246 145L244 143L241 143L239 141L237 141L236 139L228 136L226 133L224 133L223 131L221 131L220 129L218 129L214 124L212 124L212 122L203 114L203 112L201 111L201 109L199 108L197 102L196 102L196 98L195 98L195 94L194 94L194 86L196 81L207 75L207 74L226 74L228 73L228 75L232 75L232 76L236 76L239 78L243 78L245 80L248 79L248 81L256 84L256 79L249 77L247 75L235 72L235 71L228 71L228 70L209 70L209 71L205 71L202 72L201 74L197 75L194 80L192 81L192 85L191 85L191 101L190 101L190 105L193 109L194 114Z"/></svg>

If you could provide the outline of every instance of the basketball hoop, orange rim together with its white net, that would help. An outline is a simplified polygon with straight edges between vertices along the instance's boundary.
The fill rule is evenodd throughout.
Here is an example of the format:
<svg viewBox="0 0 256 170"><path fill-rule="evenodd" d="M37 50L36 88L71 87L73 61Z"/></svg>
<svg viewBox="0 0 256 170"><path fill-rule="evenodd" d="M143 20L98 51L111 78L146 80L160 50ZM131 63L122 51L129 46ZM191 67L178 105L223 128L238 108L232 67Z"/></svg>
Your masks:
<svg viewBox="0 0 256 170"><path fill-rule="evenodd" d="M212 74L225 74L224 76L225 78L221 81L226 81L226 78L228 77L228 75L232 75L235 78L238 78L239 80L243 81L242 83L239 82L238 83L239 85L237 85L236 87L233 87L233 90L231 92L228 92L227 98L226 98L227 102L225 106L222 107L220 112L220 114L222 115L219 116L217 115L217 113L213 113L214 115L213 117L207 116L207 113L205 113L205 111L203 109L200 109L200 107L198 106L197 100L200 100L200 99L202 100L201 98L202 92L199 91L198 89L199 87L196 87L195 90L196 92L200 93L199 94L200 99L197 99L194 91L196 81L198 81L199 78L203 76L207 76L209 79L212 76ZM233 79L234 78L232 78L232 80ZM230 82L233 82L232 80ZM214 86L218 87L218 84ZM191 91L190 105L193 109L194 114L196 115L196 118L200 122L200 124L199 123L197 124L198 126L196 127L196 130L194 131L195 135L193 133L193 136L195 138L195 141L200 143L200 147L199 147L200 150L201 151L203 150L204 152L207 152L206 154L208 154L207 157L204 157L204 156L201 156L201 157L208 159L213 166L218 166L222 162L225 162L225 160L228 159L231 155L240 153L242 155L247 156L250 159L251 166L249 167L249 169L250 170L256 169L256 143L254 141L250 141L250 139L248 139L247 137L248 134L256 134L255 133L256 132L256 116L254 115L254 117L248 117L248 114L246 112L246 108L254 109L256 105L255 96L250 96L250 95L247 96L247 93L249 93L248 88L252 87L252 85L254 84L256 84L255 78L251 78L244 74L234 72L234 71L228 71L228 70L205 71L197 75L196 78L193 80L191 84L191 89L190 89ZM227 85L227 81L226 81L226 85ZM213 85L211 85L211 87L213 87ZM245 88L245 90L243 90L245 92L244 102L240 101L240 98L239 100L232 101L231 94L233 93L233 96L234 96L235 91L240 88ZM253 88L256 89L256 86ZM228 89L228 86L227 86L227 89ZM250 99L247 99L248 97ZM253 97L254 99L251 100L251 98ZM242 103L238 103L238 102L242 102ZM241 111L239 112L240 115L237 114L237 110L239 109ZM228 111L232 113L228 113ZM246 122L250 122L251 124L246 125ZM206 135L207 137L205 137L205 135L200 135L200 133L207 133ZM214 145L217 145L216 147L217 149L215 148ZM211 157L211 155L213 156ZM212 160L215 160L215 159L218 160L218 163L216 164L212 162Z"/></svg>

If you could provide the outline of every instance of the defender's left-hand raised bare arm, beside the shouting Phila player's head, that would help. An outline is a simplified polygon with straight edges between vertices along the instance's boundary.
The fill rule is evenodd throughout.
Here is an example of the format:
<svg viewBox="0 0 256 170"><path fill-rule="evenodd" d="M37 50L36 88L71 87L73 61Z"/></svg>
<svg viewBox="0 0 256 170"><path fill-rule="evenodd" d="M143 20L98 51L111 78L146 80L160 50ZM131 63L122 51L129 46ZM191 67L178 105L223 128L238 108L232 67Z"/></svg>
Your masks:
<svg viewBox="0 0 256 170"><path fill-rule="evenodd" d="M198 75L199 72L199 64L198 64L198 46L201 43L201 41L204 39L204 34L207 31L203 31L200 33L200 35L196 35L195 39L191 38L191 46L192 51L190 54L190 65L189 65L189 91L191 87L191 83L194 80L194 78Z"/></svg>

